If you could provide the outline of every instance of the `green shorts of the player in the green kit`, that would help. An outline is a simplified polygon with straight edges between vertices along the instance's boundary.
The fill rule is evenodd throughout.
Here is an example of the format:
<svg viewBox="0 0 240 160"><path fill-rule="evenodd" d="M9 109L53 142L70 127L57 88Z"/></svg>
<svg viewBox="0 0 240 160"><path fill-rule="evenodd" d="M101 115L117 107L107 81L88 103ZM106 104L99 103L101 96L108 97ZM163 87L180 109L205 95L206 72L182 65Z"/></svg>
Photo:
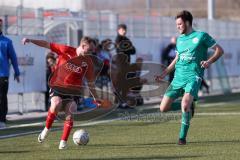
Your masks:
<svg viewBox="0 0 240 160"><path fill-rule="evenodd" d="M198 91L200 89L201 83L201 80L189 81L182 86L176 86L174 83L171 83L164 95L172 99L177 99L178 97L182 97L184 93L190 93L196 101L198 100Z"/></svg>

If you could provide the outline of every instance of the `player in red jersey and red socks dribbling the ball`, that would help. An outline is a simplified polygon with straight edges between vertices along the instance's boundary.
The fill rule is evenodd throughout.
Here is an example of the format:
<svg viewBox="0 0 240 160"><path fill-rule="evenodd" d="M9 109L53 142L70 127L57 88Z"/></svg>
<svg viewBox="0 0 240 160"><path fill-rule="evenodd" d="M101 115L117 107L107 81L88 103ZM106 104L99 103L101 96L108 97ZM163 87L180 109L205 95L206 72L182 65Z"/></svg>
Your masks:
<svg viewBox="0 0 240 160"><path fill-rule="evenodd" d="M65 86L66 88L74 88L76 86L76 83L80 87L82 86L82 79L85 77L93 98L95 100L97 99L95 85L94 83L91 83L95 80L93 61L91 60L90 56L87 56L94 49L94 42L90 37L83 37L78 48L57 43L49 43L44 40L28 38L23 38L22 43L33 43L37 46L50 49L52 52L58 54L58 61L56 64L55 72L57 72L57 69L59 69L60 74L53 74L50 79L50 87L55 85L61 87ZM79 66L76 66L69 62L69 60L72 60L74 58L77 58L78 63L80 64ZM67 68L68 72L65 73L64 76L60 76L62 71L61 68L64 67ZM74 85L72 85L73 83ZM58 112L63 110L65 112L65 121L59 149L65 149L67 147L69 134L73 127L73 109L77 108L77 104L75 102L74 96L61 94L60 92L56 92L54 89L50 89L50 97L51 106L48 110L46 126L39 134L38 141L40 143L44 141Z"/></svg>

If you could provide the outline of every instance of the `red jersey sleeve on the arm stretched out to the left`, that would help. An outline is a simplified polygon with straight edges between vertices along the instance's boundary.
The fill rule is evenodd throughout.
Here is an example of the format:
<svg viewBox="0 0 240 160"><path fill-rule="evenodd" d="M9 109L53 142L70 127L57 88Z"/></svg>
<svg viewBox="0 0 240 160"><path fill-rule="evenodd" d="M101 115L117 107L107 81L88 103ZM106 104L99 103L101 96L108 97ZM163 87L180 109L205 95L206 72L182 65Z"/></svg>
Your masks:
<svg viewBox="0 0 240 160"><path fill-rule="evenodd" d="M57 43L50 43L50 49L51 51L57 53L58 55L62 55L66 53L71 54L71 53L74 53L74 51L76 50L73 47L57 44ZM74 56L74 55L71 55L71 56Z"/></svg>

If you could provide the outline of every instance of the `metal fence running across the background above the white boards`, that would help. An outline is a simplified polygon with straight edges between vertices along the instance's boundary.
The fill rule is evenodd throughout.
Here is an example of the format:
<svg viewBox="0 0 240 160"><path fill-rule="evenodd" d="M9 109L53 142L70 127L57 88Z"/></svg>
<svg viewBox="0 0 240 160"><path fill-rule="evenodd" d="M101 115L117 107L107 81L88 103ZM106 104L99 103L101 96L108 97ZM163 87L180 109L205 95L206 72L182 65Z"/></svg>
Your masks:
<svg viewBox="0 0 240 160"><path fill-rule="evenodd" d="M74 24L74 29L81 29L85 35L115 36L119 23L127 24L130 37L162 38L177 35L174 17L135 16L118 14L113 11L76 13L22 7L16 8L15 15L2 15L2 17L5 19L5 32L14 35L47 35L50 34L51 29L55 28L56 30L59 24L65 24L65 30L62 28L59 30L61 33L65 32L61 36L66 37L68 35L67 27L69 24ZM217 39L238 39L240 37L240 22L237 21L195 18L193 26L208 32Z"/></svg>

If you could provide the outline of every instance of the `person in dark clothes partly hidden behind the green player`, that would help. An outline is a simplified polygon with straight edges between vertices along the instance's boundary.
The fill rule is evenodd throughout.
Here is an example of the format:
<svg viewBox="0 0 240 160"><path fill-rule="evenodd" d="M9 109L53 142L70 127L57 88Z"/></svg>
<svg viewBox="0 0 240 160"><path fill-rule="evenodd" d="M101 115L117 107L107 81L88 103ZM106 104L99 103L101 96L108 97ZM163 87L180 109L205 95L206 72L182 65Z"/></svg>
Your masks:
<svg viewBox="0 0 240 160"><path fill-rule="evenodd" d="M176 37L171 38L171 43L167 45L162 51L162 64L169 66L176 56ZM174 71L169 73L169 82L172 82L174 77Z"/></svg>

